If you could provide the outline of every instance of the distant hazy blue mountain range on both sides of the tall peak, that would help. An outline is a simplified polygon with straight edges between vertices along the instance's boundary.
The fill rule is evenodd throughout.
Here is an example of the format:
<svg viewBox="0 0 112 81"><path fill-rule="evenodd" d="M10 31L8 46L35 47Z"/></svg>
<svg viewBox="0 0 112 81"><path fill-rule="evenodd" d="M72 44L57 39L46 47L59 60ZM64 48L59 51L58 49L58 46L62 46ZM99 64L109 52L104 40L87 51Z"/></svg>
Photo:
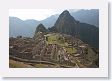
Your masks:
<svg viewBox="0 0 112 81"><path fill-rule="evenodd" d="M79 10L77 12L71 12L70 14L76 20L78 20L80 22L84 22L84 23L88 23L88 24L90 24L91 22L93 24L94 24L94 22L97 22L94 25L98 26L99 12L97 9ZM91 14L93 14L93 15L91 15ZM55 24L58 17L59 17L59 15L56 14L56 15L52 15L42 21L37 21L34 19L28 19L28 20L23 21L17 17L9 17L9 30L10 30L9 35L10 35L10 37L11 36L16 37L18 35L33 37L37 25L42 23L46 28L52 27Z"/></svg>

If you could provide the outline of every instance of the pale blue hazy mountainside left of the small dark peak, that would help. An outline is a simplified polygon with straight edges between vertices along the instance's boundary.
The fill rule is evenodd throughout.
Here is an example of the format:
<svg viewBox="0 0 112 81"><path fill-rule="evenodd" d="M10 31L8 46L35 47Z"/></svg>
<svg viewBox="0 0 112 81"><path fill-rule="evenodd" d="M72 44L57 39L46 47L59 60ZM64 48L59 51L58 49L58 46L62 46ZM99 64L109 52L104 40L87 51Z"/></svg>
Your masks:
<svg viewBox="0 0 112 81"><path fill-rule="evenodd" d="M22 35L25 37L32 37L38 21L27 20L23 21L17 17L9 17L9 36Z"/></svg>

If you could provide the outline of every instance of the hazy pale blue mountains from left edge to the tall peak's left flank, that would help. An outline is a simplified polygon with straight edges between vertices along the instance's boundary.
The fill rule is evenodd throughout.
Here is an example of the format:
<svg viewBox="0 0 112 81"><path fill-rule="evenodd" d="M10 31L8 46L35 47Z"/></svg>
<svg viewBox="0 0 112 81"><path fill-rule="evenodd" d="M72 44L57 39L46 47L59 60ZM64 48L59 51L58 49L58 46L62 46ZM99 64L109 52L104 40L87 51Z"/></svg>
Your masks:
<svg viewBox="0 0 112 81"><path fill-rule="evenodd" d="M17 17L9 17L9 36L33 37L36 27L43 23L46 28L52 27L58 18L58 15L52 15L45 20L37 21L34 19L21 20Z"/></svg>

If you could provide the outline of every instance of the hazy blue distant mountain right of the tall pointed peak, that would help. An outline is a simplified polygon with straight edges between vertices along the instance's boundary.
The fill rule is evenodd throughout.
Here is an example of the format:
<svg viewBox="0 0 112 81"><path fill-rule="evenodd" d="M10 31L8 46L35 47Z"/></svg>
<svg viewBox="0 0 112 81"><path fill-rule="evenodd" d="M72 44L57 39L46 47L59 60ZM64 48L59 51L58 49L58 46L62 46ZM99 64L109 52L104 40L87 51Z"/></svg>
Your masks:
<svg viewBox="0 0 112 81"><path fill-rule="evenodd" d="M91 9L91 10L79 10L77 12L71 12L71 15L78 21L83 23L88 23L99 27L99 10Z"/></svg>

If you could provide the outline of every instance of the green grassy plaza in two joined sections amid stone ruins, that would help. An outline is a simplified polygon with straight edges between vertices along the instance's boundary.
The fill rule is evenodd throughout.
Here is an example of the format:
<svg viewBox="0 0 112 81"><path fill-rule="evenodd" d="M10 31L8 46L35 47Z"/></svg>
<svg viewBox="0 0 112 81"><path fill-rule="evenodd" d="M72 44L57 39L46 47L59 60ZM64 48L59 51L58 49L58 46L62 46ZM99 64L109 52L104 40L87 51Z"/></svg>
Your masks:
<svg viewBox="0 0 112 81"><path fill-rule="evenodd" d="M64 37L61 37L59 34L47 34L46 35L47 44L58 44L66 49L70 54L76 53L77 49L74 47L69 47L68 43L65 42Z"/></svg>

